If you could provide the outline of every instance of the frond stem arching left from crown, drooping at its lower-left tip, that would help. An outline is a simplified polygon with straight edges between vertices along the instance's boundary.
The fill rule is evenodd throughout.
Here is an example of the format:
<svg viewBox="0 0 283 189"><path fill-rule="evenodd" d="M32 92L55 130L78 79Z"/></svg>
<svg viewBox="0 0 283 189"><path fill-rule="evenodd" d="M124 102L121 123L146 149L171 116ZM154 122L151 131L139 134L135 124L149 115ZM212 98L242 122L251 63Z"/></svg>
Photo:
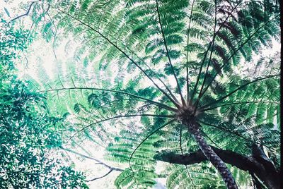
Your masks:
<svg viewBox="0 0 283 189"><path fill-rule="evenodd" d="M76 131L76 133L74 133L74 135L71 135L71 138L69 138L69 140L67 142L69 142L72 138L74 138L74 136L77 135L78 133L81 133L81 131L83 131L86 128L89 128L91 126L94 126L98 123L103 123L105 121L110 121L110 120L116 119L116 118L129 118L129 117L136 117L136 116L152 116L152 117L159 117L159 118L173 118L173 117L175 117L175 116L169 116L169 115L156 115L156 114L134 114L134 115L114 116L114 117L111 117L111 118L105 118L103 120L96 121L95 123L91 123L88 126L84 126L80 130Z"/></svg>

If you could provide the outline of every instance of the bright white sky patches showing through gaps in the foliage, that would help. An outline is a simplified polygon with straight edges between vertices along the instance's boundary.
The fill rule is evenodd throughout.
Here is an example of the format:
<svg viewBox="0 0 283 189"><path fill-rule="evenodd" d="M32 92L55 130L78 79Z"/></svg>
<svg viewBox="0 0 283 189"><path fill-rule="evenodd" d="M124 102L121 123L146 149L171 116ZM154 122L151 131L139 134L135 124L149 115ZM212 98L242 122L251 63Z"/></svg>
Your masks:
<svg viewBox="0 0 283 189"><path fill-rule="evenodd" d="M4 1L0 0L0 16L3 20L11 20L15 18L16 16L19 16L26 12L27 4L31 1L21 1L21 0L13 0L13 1ZM29 16L24 16L19 20L16 20L18 23L22 23L25 28L30 28L31 21ZM1 23L0 23L1 24ZM21 78L27 78L27 75L30 75L31 78L34 78L38 81L39 77L42 77L39 73L37 73L37 70L40 66L45 68L46 75L48 75L49 78L55 79L58 75L55 75L56 73L54 69L56 69L56 63L62 62L63 70L66 71L62 74L68 74L67 73L67 63L74 61L74 51L76 47L79 46L79 44L76 44L74 41L71 45L71 47L66 48L66 44L69 42L69 38L64 39L62 43L58 47L54 47L52 45L52 42L46 42L45 39L42 39L40 35L37 35L35 38L35 41L32 45L28 48L28 51L21 52L19 51L18 54L20 55L21 59L18 60L18 75ZM271 56L272 54L275 54L276 51L280 51L280 44L279 42L276 42L275 40L273 42L272 49L263 49L261 54L254 54L253 56L253 63L257 62L258 59L260 59L260 55L263 56ZM98 57L99 58L99 57ZM77 62L80 63L80 62ZM254 64L251 63L251 66L253 67ZM92 72L93 64L89 64L88 67L88 73ZM240 65L240 66L243 66ZM247 66L247 65L246 65ZM247 67L248 68L248 67ZM116 69L117 70L117 69ZM115 71L115 68L112 69L112 71ZM237 70L235 70L237 72ZM173 76L172 76L173 77ZM146 82L146 81L145 81ZM170 80L171 85L175 87L176 83L174 79ZM151 85L149 83L149 85ZM84 144L86 147L95 148L93 145L90 144ZM96 152L96 158L103 159L103 151L97 150ZM86 170L86 172L95 174L103 173L105 170L100 167L96 167L95 169L93 166L89 166L90 164L93 164L93 161L91 160L84 160L81 161L81 159L76 158L74 155L69 154L72 157L72 161L76 164L76 168L81 170ZM162 166L162 165L161 165ZM111 182L115 179L115 176L117 176L118 173L111 173L112 176L110 176ZM99 175L99 174L98 174ZM115 175L115 176L114 176ZM93 176L96 177L96 176ZM109 178L107 178L109 179ZM109 183L109 181L105 181L105 179L101 179L99 181L96 181L93 183L93 187L96 185L99 185L101 183ZM114 188L114 186L112 186ZM108 188L110 188L110 185L108 185ZM159 188L163 188L163 186L159 186Z"/></svg>

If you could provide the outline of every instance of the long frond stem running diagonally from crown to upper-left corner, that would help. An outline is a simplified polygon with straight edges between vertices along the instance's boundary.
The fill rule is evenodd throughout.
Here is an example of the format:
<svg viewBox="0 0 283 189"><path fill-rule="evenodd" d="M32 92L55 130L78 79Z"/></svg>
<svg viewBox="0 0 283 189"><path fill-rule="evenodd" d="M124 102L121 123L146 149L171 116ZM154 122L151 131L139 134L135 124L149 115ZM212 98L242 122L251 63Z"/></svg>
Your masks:
<svg viewBox="0 0 283 189"><path fill-rule="evenodd" d="M53 7L54 8L54 7ZM82 25L85 25L86 27L90 28L91 30L93 30L94 32L98 33L98 35L100 35L101 37L103 37L103 39L105 39L107 42L109 42L113 47L115 47L118 51L120 51L124 56L127 57L127 59L129 59L129 61L131 61L132 63L134 63L135 66L137 66L137 68L139 68L139 70L144 73L144 75L146 75L146 78L149 78L149 80L151 80L151 83L153 83L158 90L160 90L171 102L173 102L173 104L175 104L175 106L179 106L178 103L176 103L163 89L161 89L161 87L159 87L154 80L146 73L146 71L144 71L144 69L141 68L141 66L139 66L131 57L129 57L129 55L127 55L125 53L125 51L123 51L122 49L120 49L120 47L117 47L116 44L114 44L112 41L110 41L110 39L108 39L108 37L106 37L105 35L103 35L101 32L99 32L98 30L96 30L95 28L93 28L91 25L88 25L87 23L83 23L83 21L79 20L78 18L75 18L74 16L71 16L69 13L66 13L62 10L60 10L59 8L54 8L57 11L60 11L64 14L66 14L67 16L73 18L74 20L78 21L79 23L81 23Z"/></svg>

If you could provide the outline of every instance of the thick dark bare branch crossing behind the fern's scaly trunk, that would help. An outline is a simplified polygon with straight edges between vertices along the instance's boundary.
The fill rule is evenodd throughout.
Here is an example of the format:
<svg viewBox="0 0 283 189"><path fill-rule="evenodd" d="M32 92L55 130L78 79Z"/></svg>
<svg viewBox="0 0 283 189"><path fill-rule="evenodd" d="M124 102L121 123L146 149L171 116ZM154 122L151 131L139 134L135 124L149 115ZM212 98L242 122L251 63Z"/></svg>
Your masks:
<svg viewBox="0 0 283 189"><path fill-rule="evenodd" d="M214 152L227 164L236 166L238 169L254 173L267 188L279 188L279 172L275 166L267 162L267 160L253 154L252 157L238 154L231 150L221 150L212 147ZM154 156L154 159L165 161L171 164L191 165L198 164L202 161L207 161L201 150L197 150L190 154L175 154L175 152L159 152ZM268 163L268 164L267 164Z"/></svg>

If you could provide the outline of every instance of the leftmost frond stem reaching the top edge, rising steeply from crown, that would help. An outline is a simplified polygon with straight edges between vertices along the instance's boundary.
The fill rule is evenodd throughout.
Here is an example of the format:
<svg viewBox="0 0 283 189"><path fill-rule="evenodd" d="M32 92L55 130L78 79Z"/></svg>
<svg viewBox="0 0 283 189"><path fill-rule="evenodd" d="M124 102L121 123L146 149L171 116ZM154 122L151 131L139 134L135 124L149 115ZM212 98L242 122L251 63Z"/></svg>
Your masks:
<svg viewBox="0 0 283 189"><path fill-rule="evenodd" d="M158 9L158 0L156 0L156 11L157 11L157 15L158 15L158 23L159 23L160 28L161 28L161 34L162 34L162 37L163 37L163 40L164 40L164 46L165 46L165 49L166 49L168 61L169 61L169 64L171 66L171 70L173 72L174 78L175 78L176 83L177 83L177 87L178 87L178 91L179 91L179 94L180 94L180 97L181 97L182 104L183 104L183 106L185 106L185 99L183 98L183 95L182 95L182 92L181 92L181 89L180 89L180 85L179 85L179 82L178 82L178 78L177 78L177 75L175 74L175 71L174 71L174 68L173 68L173 65L172 65L172 62L171 62L171 58L169 56L167 42L166 42L166 38L165 38L165 35L164 35L163 27L162 27L162 24L161 24L160 12L159 12L159 9Z"/></svg>

